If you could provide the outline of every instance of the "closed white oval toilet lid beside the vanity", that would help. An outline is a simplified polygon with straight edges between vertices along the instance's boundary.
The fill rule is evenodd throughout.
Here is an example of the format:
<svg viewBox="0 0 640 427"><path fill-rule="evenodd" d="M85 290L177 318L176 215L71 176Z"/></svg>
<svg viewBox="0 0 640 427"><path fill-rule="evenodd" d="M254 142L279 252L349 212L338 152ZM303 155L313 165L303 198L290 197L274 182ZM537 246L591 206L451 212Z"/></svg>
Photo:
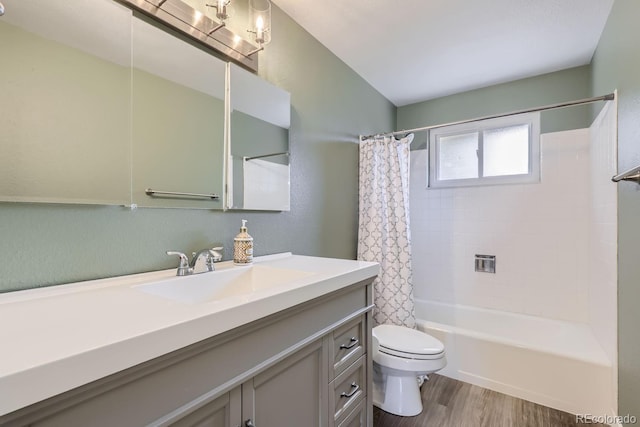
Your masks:
<svg viewBox="0 0 640 427"><path fill-rule="evenodd" d="M440 340L424 332L404 326L379 325L373 328L373 335L380 347L415 355L435 355L444 352Z"/></svg>

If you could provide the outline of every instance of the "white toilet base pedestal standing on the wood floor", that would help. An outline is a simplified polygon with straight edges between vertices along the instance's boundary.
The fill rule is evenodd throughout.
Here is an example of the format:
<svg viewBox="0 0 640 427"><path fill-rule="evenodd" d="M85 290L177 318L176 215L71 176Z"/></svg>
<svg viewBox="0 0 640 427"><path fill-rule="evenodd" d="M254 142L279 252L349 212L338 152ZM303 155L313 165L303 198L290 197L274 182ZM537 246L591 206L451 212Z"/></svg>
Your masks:
<svg viewBox="0 0 640 427"><path fill-rule="evenodd" d="M374 362L373 404L385 412L403 417L420 414L422 397L418 376L410 372L381 369Z"/></svg>

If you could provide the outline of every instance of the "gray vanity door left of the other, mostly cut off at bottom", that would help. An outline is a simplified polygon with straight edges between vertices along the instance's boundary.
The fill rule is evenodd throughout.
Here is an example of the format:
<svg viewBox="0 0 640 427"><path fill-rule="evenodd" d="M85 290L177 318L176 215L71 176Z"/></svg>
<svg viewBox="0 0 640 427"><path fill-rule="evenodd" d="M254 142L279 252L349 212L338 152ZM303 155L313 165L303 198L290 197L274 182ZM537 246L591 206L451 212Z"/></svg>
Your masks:
<svg viewBox="0 0 640 427"><path fill-rule="evenodd" d="M171 427L237 427L240 425L241 389L237 387L185 415Z"/></svg>

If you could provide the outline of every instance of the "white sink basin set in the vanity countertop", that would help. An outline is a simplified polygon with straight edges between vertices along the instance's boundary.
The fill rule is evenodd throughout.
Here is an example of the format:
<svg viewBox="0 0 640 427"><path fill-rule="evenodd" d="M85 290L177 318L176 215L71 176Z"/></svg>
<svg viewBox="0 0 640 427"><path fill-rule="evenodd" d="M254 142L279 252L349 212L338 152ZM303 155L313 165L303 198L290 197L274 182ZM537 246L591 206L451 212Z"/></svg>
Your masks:
<svg viewBox="0 0 640 427"><path fill-rule="evenodd" d="M189 304L224 300L284 286L315 273L263 265L229 267L224 270L173 277L134 286L147 294Z"/></svg>

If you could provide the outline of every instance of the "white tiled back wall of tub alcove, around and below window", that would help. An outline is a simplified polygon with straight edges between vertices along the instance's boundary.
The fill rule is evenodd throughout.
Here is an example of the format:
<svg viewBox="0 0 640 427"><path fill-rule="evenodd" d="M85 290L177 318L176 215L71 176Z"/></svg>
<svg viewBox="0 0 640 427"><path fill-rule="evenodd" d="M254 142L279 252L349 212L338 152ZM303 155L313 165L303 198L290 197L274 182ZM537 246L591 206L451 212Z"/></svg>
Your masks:
<svg viewBox="0 0 640 427"><path fill-rule="evenodd" d="M588 129L542 135L536 184L427 190L426 151L411 155L416 298L589 320Z"/></svg>

